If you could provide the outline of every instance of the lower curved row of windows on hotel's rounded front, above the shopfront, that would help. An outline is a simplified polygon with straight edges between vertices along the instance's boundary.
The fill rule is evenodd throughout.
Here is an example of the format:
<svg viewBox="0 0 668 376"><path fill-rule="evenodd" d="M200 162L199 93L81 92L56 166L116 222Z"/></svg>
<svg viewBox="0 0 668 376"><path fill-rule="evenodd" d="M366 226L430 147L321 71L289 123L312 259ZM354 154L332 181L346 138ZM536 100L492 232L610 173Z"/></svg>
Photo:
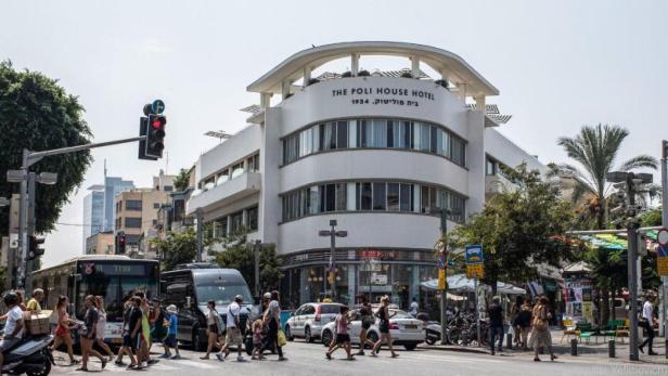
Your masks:
<svg viewBox="0 0 668 376"><path fill-rule="evenodd" d="M407 211L440 215L463 222L465 198L449 190L402 182L325 183L293 191L282 196L283 221L330 211Z"/></svg>

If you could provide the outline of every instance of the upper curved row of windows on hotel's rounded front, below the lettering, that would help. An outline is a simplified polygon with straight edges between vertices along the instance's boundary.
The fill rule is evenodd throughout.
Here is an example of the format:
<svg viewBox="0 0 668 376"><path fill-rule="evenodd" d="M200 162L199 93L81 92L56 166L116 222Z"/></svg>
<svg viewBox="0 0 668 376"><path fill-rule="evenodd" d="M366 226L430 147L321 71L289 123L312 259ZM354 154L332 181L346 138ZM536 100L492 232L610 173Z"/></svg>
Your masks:
<svg viewBox="0 0 668 376"><path fill-rule="evenodd" d="M404 148L444 156L466 165L466 143L446 129L419 121L351 119L317 124L283 139L283 164L331 150Z"/></svg>

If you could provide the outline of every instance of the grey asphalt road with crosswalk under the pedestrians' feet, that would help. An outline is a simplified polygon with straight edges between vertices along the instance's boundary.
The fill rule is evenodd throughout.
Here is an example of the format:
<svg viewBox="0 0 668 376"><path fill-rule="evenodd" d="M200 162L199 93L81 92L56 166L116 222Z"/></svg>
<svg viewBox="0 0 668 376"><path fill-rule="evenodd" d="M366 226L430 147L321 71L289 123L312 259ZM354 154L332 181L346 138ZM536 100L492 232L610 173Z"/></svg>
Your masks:
<svg viewBox="0 0 668 376"><path fill-rule="evenodd" d="M153 351L158 348L154 347ZM141 375L211 375L211 373L234 373L237 375L667 375L668 366L651 364L611 363L606 360L571 359L562 356L557 362L534 362L529 358L491 356L488 354L460 353L440 350L399 351L400 356L389 358L388 351L382 351L378 358L358 356L356 361L344 360L345 352L339 350L334 360L324 358L322 345L309 345L300 341L290 342L285 347L286 362L278 362L277 355L269 355L266 361L236 362L231 354L226 362L211 358L200 360L201 353L182 350L182 360L162 360L145 371L126 371L110 364L102 373L139 373ZM52 375L81 375L76 367L64 366L68 363L66 355L55 354L59 366ZM548 359L548 356L543 356ZM126 359L127 361L127 359ZM92 373L100 373L98 360L89 365Z"/></svg>

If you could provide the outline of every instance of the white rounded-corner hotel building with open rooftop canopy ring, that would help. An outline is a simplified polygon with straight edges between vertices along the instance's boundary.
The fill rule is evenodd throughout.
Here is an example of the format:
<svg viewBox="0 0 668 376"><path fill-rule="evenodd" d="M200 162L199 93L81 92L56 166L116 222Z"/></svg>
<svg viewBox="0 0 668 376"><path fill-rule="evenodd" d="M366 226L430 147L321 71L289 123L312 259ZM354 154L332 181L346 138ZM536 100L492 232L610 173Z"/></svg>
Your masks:
<svg viewBox="0 0 668 376"><path fill-rule="evenodd" d="M360 68L368 55L406 59L409 68L370 74ZM349 70L313 77L341 59ZM451 229L504 183L499 164L545 169L496 130L510 118L486 105L499 90L438 48L314 47L247 90L259 94L259 106L247 108L248 127L198 158L198 190L187 210L201 209L217 235L245 226L249 239L275 244L288 306L329 290L330 238L318 232L331 219L348 232L336 243L342 300L388 294L406 308L423 299L421 283L437 275L441 206L453 212ZM375 262L365 263L370 257Z"/></svg>

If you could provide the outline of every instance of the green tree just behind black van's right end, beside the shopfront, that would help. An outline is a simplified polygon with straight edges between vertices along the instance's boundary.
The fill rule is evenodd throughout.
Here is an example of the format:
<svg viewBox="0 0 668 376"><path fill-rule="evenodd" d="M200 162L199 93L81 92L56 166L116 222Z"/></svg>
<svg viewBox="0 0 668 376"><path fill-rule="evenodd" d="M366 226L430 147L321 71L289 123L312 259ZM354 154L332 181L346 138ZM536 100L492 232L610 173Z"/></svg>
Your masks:
<svg viewBox="0 0 668 376"><path fill-rule="evenodd" d="M253 246L247 243L245 231L231 234L222 239L223 250L216 255L216 262L222 268L236 269L249 286L255 284L255 256ZM260 249L260 290L270 291L279 288L283 272L282 258L277 254L274 244L266 244Z"/></svg>

